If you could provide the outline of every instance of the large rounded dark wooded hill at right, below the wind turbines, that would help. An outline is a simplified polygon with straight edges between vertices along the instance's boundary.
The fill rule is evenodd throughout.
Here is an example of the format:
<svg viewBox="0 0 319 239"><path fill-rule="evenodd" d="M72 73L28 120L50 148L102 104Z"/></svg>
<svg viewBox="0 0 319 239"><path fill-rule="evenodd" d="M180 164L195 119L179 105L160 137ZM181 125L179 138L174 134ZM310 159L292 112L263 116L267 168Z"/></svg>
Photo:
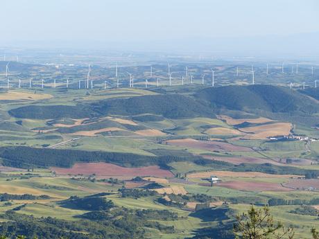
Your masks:
<svg viewBox="0 0 319 239"><path fill-rule="evenodd" d="M212 105L241 111L299 112L313 114L319 105L298 91L272 85L205 88L196 96Z"/></svg>

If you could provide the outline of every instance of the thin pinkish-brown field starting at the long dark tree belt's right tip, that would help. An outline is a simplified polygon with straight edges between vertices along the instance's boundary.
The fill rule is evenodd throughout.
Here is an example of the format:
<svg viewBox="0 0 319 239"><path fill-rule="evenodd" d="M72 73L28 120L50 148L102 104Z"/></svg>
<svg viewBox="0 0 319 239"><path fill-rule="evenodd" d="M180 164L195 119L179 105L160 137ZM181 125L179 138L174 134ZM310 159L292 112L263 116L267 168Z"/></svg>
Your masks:
<svg viewBox="0 0 319 239"><path fill-rule="evenodd" d="M205 159L224 161L224 162L233 163L236 165L239 165L241 163L257 163L257 164L271 163L274 165L281 165L282 166L282 163L273 161L271 159L261 159L261 158L252 158L252 157L215 157L215 156L210 156L210 155L202 155L202 157Z"/></svg>

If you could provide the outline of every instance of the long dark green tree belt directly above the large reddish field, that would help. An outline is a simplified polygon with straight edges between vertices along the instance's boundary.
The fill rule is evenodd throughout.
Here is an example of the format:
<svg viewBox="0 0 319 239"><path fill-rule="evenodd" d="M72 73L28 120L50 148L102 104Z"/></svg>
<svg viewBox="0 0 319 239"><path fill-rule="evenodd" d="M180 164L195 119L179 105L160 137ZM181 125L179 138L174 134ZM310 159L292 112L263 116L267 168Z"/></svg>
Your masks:
<svg viewBox="0 0 319 239"><path fill-rule="evenodd" d="M200 157L151 157L119 152L58 150L24 146L2 147L0 157L3 159L3 165L17 168L49 168L52 166L69 168L76 162L106 162L125 167L139 167L200 159Z"/></svg>

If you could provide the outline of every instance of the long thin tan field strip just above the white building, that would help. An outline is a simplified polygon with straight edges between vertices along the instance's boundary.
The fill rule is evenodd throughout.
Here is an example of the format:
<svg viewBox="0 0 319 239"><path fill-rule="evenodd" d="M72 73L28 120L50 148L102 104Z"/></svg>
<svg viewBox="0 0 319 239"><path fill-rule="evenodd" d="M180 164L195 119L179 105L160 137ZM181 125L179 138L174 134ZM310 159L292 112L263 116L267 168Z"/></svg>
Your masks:
<svg viewBox="0 0 319 239"><path fill-rule="evenodd" d="M187 175L187 177L205 178L215 175L217 177L277 177L277 178L292 178L300 177L299 175L270 175L264 172L232 172L232 171L208 171L208 172L193 172Z"/></svg>

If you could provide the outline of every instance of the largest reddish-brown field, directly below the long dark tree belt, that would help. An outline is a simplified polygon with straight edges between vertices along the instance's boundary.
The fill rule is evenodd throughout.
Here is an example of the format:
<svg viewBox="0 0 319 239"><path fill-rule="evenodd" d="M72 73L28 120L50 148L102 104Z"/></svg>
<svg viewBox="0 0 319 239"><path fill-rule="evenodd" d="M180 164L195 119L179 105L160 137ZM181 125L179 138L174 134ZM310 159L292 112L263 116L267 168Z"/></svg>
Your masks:
<svg viewBox="0 0 319 239"><path fill-rule="evenodd" d="M159 166L147 166L142 168L124 168L112 163L76 163L72 168L51 168L57 175L93 175L99 177L173 177L169 170L163 170Z"/></svg>

